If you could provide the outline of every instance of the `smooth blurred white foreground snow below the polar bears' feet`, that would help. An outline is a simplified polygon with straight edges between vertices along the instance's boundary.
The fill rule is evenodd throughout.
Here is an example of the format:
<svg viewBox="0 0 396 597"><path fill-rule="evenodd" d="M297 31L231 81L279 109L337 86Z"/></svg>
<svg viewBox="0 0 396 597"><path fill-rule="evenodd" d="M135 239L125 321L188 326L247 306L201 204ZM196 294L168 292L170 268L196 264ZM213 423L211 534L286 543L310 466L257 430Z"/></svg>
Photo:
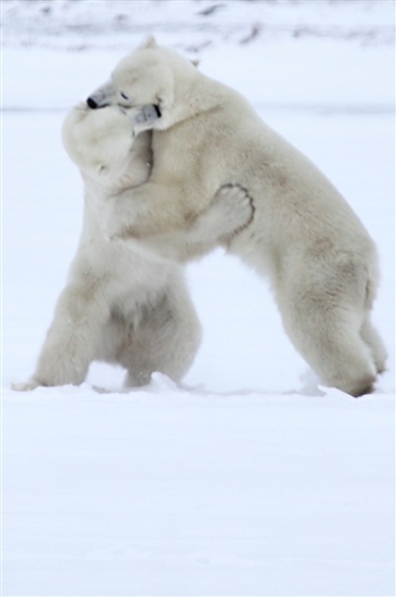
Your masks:
<svg viewBox="0 0 396 597"><path fill-rule="evenodd" d="M161 379L14 395L4 595L391 595L392 411Z"/></svg>

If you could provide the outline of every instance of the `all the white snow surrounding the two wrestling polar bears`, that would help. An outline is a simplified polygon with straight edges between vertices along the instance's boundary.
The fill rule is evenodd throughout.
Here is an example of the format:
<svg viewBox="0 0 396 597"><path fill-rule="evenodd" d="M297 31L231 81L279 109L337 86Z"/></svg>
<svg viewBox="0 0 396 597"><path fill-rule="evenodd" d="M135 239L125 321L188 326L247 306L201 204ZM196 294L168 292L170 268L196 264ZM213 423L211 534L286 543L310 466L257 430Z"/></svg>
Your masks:
<svg viewBox="0 0 396 597"><path fill-rule="evenodd" d="M2 595L394 595L394 2L2 2ZM264 280L189 266L204 327L181 386L21 394L76 249L68 107L149 33L242 92L378 243L371 396L317 388ZM93 385L104 388L99 394Z"/></svg>

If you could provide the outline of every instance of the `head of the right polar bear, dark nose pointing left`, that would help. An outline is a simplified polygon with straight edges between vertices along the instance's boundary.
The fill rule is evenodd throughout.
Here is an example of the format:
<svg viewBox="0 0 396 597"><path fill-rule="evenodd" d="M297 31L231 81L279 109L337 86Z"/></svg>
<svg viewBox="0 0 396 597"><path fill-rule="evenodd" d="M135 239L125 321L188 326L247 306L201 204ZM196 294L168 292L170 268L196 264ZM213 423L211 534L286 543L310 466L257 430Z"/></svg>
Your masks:
<svg viewBox="0 0 396 597"><path fill-rule="evenodd" d="M196 76L194 63L157 46L149 37L117 64L111 80L93 91L87 104L91 109L118 105L127 113L130 109L145 107L140 115L139 131L164 130L183 119L183 106L188 106L189 90ZM148 111L146 106L154 110Z"/></svg>

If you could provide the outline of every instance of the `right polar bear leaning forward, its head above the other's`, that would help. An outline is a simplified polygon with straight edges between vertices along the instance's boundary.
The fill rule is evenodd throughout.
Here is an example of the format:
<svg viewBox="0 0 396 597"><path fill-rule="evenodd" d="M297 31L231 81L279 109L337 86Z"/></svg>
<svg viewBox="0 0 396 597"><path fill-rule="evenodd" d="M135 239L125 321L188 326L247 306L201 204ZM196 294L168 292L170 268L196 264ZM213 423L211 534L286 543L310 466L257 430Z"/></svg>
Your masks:
<svg viewBox="0 0 396 597"><path fill-rule="evenodd" d="M230 253L269 277L286 333L324 384L353 396L371 392L386 360L370 321L376 249L323 174L240 93L152 37L87 102L126 112L155 105L158 115L136 127L153 131L153 168L133 201L128 191L118 195L113 234L145 239L183 261L179 239L191 218L219 187L246 188L254 218L230 240Z"/></svg>

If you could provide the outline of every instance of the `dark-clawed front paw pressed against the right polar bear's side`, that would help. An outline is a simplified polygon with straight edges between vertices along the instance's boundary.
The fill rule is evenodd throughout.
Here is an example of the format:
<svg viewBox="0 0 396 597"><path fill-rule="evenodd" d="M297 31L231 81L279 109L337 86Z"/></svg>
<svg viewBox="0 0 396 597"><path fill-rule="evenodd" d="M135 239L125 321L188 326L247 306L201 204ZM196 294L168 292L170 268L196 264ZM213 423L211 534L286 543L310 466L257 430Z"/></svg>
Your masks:
<svg viewBox="0 0 396 597"><path fill-rule="evenodd" d="M254 217L253 199L240 185L225 185L216 195L213 208L219 211L221 236L237 234L251 224Z"/></svg>

